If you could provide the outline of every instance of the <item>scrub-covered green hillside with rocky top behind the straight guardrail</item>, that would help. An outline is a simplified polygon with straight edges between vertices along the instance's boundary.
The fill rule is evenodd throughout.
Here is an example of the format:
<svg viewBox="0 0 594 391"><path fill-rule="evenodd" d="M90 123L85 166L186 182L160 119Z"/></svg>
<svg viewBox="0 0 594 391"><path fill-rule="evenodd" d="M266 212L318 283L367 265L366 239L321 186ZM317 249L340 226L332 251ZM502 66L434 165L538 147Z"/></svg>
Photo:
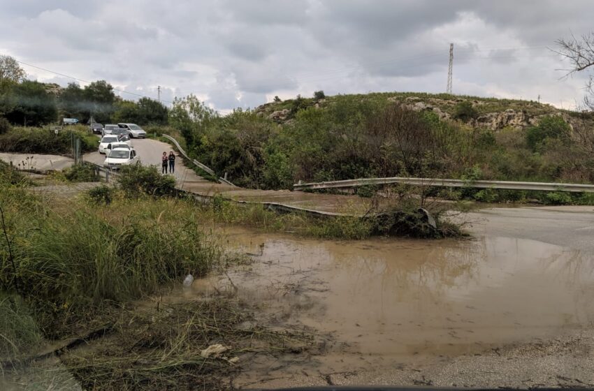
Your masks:
<svg viewBox="0 0 594 391"><path fill-rule="evenodd" d="M391 176L594 181L591 115L536 102L374 93L276 100L219 117L196 101L174 106L170 123L194 157L240 186Z"/></svg>

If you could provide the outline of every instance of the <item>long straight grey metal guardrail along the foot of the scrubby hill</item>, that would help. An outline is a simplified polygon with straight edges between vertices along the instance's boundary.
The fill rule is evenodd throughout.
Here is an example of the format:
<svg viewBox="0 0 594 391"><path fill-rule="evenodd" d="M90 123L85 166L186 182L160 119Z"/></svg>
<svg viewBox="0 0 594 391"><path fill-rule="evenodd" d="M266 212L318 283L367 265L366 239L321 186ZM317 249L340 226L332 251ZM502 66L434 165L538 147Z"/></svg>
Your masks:
<svg viewBox="0 0 594 391"><path fill-rule="evenodd" d="M509 182L509 181L463 181L461 179L438 178L364 178L348 179L345 181L298 183L293 185L295 190L337 189L373 184L411 184L415 186L442 186L442 187L476 187L479 189L506 189L506 190L541 190L541 191L570 191L573 193L594 193L592 184L565 184L541 182Z"/></svg>

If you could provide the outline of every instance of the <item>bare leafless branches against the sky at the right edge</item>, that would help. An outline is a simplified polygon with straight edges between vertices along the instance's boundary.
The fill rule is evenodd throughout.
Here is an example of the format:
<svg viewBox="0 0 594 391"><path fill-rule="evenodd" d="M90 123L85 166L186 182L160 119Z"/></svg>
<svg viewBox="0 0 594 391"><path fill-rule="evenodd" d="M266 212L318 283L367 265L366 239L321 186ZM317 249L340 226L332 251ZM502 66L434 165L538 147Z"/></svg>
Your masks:
<svg viewBox="0 0 594 391"><path fill-rule="evenodd" d="M594 32L584 34L581 38L572 35L570 39L560 39L556 43L559 49L553 52L569 59L572 66L567 70L566 76L586 71L594 65ZM594 75L590 75L590 79L586 82L584 105L588 110L594 110Z"/></svg>

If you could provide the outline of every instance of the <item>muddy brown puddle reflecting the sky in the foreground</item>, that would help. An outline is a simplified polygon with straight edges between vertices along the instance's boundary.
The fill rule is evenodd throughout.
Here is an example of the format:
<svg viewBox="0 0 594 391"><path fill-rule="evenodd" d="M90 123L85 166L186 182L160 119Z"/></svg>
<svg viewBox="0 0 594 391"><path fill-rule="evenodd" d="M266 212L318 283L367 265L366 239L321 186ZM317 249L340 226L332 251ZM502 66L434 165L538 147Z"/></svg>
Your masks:
<svg viewBox="0 0 594 391"><path fill-rule="evenodd" d="M533 240L331 242L234 230L229 241L250 253L264 244L249 270L231 274L240 297L280 323L333 334L350 353L459 354L593 320L593 257Z"/></svg>

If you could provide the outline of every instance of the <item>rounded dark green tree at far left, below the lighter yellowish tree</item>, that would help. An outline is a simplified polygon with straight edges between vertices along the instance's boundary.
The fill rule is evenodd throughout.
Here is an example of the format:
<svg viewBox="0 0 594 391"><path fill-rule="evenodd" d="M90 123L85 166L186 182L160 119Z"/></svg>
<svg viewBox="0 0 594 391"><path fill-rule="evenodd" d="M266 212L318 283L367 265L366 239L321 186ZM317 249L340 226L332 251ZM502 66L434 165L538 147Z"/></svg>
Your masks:
<svg viewBox="0 0 594 391"><path fill-rule="evenodd" d="M43 83L24 80L13 87L14 108L6 119L17 125L39 126L57 119L55 98L46 91Z"/></svg>

